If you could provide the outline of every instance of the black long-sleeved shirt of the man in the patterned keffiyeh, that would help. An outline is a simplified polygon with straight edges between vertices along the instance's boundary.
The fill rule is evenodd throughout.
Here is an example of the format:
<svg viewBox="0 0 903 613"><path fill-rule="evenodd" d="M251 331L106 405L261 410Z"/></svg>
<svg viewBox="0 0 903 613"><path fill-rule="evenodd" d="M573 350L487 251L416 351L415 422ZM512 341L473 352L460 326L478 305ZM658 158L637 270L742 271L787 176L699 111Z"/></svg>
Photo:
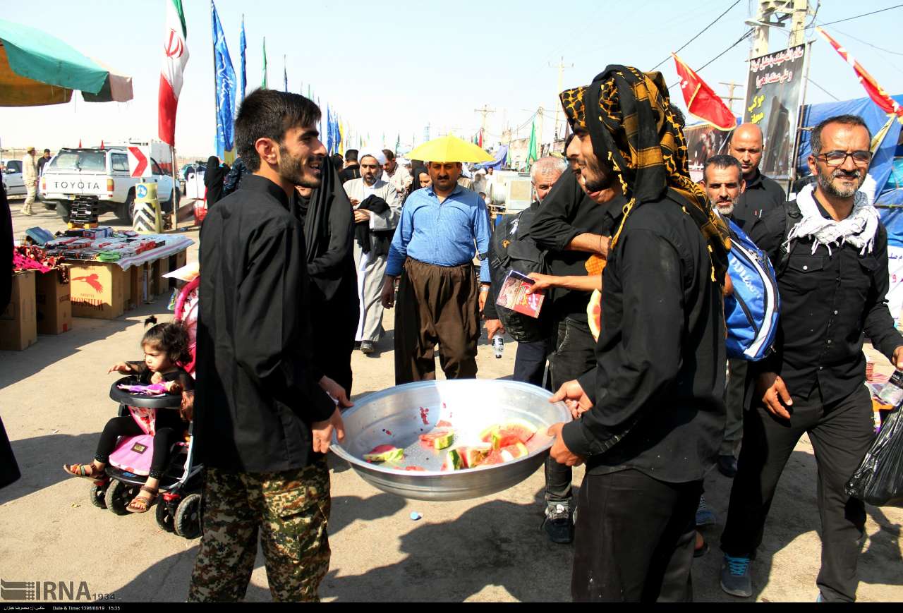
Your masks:
<svg viewBox="0 0 903 613"><path fill-rule="evenodd" d="M593 407L563 429L592 473L700 480L724 435L721 287L702 233L674 198L628 216L602 273L597 366L580 378Z"/></svg>

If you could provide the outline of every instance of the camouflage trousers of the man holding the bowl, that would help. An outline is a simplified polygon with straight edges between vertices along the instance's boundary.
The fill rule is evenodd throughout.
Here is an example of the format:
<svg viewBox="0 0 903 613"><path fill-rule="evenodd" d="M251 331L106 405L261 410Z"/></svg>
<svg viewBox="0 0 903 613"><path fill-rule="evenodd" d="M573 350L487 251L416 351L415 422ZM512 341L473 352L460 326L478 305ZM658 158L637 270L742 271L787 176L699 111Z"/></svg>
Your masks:
<svg viewBox="0 0 903 613"><path fill-rule="evenodd" d="M206 472L203 534L189 602L245 598L258 528L273 599L318 601L317 590L330 568L326 460L284 472Z"/></svg>

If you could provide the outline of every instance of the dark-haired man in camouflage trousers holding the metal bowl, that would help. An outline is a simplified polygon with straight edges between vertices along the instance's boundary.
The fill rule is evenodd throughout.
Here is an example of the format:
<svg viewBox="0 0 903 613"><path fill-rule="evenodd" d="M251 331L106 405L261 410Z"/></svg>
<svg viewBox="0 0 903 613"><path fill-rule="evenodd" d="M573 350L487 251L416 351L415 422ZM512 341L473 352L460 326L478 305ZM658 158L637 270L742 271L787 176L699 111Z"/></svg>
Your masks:
<svg viewBox="0 0 903 613"><path fill-rule="evenodd" d="M319 118L297 94L245 98L236 140L253 174L201 229L194 435L206 483L191 601L244 597L258 529L275 600L318 599L329 570L325 453L333 430L344 436L337 404L350 403L312 355L304 228L292 207L295 187L318 187L327 170Z"/></svg>

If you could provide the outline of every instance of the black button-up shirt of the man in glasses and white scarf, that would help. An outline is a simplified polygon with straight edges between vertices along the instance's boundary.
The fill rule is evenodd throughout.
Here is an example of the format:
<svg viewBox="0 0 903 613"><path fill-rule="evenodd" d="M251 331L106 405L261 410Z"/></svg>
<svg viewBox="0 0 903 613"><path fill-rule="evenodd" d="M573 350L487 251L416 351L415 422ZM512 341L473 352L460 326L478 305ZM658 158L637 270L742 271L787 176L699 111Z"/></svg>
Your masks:
<svg viewBox="0 0 903 613"><path fill-rule="evenodd" d="M830 218L818 200L819 213ZM787 205L796 208L796 200ZM775 372L792 395L808 397L818 385L825 403L851 395L865 380L863 332L890 359L903 337L894 328L888 293L888 233L879 224L871 253L850 244L824 245L794 239L787 268L777 270L787 240L785 215L763 218L750 238L768 252L781 297L775 352L755 372Z"/></svg>

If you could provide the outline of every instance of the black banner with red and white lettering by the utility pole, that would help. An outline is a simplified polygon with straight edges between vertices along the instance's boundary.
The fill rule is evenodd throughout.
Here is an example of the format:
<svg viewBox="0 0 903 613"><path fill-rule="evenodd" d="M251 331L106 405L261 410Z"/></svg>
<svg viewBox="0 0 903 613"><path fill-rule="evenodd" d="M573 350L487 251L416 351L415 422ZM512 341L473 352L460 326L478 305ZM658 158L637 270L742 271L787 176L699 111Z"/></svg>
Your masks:
<svg viewBox="0 0 903 613"><path fill-rule="evenodd" d="M805 45L749 60L743 121L762 128L765 153L759 171L773 179L787 179L793 169L804 71Z"/></svg>

